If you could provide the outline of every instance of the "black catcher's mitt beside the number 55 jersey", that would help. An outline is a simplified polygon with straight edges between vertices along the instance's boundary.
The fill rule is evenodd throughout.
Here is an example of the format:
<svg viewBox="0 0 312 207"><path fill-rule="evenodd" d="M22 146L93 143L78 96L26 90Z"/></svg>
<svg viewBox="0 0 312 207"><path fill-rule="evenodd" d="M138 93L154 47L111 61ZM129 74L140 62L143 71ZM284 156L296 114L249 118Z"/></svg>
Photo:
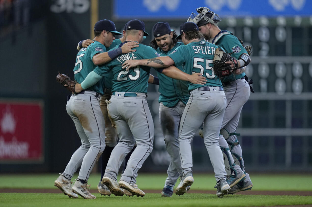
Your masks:
<svg viewBox="0 0 312 207"><path fill-rule="evenodd" d="M225 62L232 61L234 68L231 68L230 64ZM224 50L217 48L213 56L213 71L218 77L229 76L234 70L238 68L237 59L226 53Z"/></svg>

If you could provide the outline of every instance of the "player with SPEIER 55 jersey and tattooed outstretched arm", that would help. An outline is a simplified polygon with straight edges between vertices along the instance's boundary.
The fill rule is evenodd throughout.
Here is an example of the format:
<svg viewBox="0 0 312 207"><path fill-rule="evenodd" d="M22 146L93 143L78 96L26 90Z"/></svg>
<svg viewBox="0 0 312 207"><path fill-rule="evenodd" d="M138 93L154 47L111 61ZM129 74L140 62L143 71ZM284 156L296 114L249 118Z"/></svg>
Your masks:
<svg viewBox="0 0 312 207"><path fill-rule="evenodd" d="M191 186L194 182L191 142L203 123L204 143L215 172L217 196L220 197L227 194L230 189L226 181L222 151L218 144L226 97L220 79L212 70L214 51L219 46L200 41L201 38L202 34L198 31L197 25L193 22L185 22L180 26L180 35L176 37L176 39L182 39L185 45L179 46L167 57L129 60L123 64L123 67L136 65L168 67L173 64L184 64L186 73L200 72L203 77L207 78L208 81L204 86L192 83L188 85L190 98L183 111L179 128L179 155L183 176L175 193L183 195L187 191L187 186Z"/></svg>

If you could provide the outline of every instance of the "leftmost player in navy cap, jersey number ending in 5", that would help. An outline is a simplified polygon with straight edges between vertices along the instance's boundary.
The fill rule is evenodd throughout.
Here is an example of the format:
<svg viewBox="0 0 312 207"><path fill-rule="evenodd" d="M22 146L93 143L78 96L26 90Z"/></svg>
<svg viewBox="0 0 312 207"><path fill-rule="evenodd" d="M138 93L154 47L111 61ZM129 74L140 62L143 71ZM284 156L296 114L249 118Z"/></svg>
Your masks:
<svg viewBox="0 0 312 207"><path fill-rule="evenodd" d="M99 68L96 64L101 58L101 53L106 52L105 47L110 46L115 34L121 33L116 31L112 21L105 19L95 23L94 34L94 43L87 48L82 48L77 53L74 74L78 83L83 82L90 71ZM112 54L121 53L120 50L105 55L113 59ZM77 198L80 195L88 199L96 198L89 192L87 181L105 148L105 120L99 104L99 96L104 94L103 81L99 81L78 94L72 94L66 104L67 113L74 121L80 136L81 146L72 155L65 171L60 173L60 177L54 184L69 197ZM79 176L71 187L71 178L80 166Z"/></svg>

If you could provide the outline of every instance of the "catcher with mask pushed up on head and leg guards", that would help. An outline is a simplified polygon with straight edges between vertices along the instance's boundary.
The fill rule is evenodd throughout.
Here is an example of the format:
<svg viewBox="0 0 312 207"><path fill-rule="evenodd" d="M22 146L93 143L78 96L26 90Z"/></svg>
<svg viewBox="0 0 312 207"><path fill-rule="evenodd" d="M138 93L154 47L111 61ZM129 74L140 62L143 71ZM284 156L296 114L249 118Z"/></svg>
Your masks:
<svg viewBox="0 0 312 207"><path fill-rule="evenodd" d="M251 91L248 82L245 80L246 75L243 72L245 66L250 63L250 57L241 42L231 32L219 29L217 23L222 20L217 14L207 7L200 7L196 10L199 14L195 15L192 13L195 17L190 17L188 21L197 24L199 31L202 32L205 39L209 39L209 42L221 46L227 53L231 53L232 57L238 59L238 67L241 67L241 74L227 76L222 79L222 85L227 97L227 107L222 121L219 145L225 154L225 166L227 169L231 169L231 172L227 170L227 181L232 187L229 193L233 194L238 191L250 190L252 183L249 174L245 172L241 145L236 138L239 135L236 134L236 129L241 109L248 100ZM229 150L231 150L232 155L229 153ZM241 179L241 173L237 169L238 166L246 174L243 180Z"/></svg>

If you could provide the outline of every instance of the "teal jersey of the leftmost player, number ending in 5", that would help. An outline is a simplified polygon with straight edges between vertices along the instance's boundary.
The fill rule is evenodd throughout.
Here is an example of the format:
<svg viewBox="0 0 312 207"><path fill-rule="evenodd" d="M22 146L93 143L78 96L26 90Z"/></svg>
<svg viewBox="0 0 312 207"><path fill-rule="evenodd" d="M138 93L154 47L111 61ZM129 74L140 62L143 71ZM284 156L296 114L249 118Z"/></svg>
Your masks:
<svg viewBox="0 0 312 207"><path fill-rule="evenodd" d="M105 46L98 41L94 41L94 43L90 44L87 48L82 48L79 50L79 52L77 53L76 64L74 67L75 80L78 83L84 81L87 75L95 68L101 67L96 66L93 63L92 58L95 54L104 52L106 52ZM105 80L102 78L95 85L85 90L92 90L97 93L103 94L104 81Z"/></svg>

